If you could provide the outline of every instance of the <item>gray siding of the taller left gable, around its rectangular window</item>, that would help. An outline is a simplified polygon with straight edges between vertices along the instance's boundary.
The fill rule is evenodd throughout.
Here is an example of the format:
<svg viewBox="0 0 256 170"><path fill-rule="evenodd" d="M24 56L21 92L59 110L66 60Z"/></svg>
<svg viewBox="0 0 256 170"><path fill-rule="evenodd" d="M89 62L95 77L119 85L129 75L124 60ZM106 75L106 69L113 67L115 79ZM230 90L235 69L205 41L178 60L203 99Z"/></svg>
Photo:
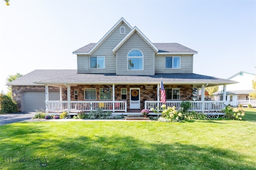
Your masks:
<svg viewBox="0 0 256 170"><path fill-rule="evenodd" d="M125 27L125 34L120 34L120 27ZM116 57L112 49L130 32L124 24L113 30L110 36L92 53L91 56L105 56L105 69L90 69L89 56L78 55L78 73L116 73Z"/></svg>

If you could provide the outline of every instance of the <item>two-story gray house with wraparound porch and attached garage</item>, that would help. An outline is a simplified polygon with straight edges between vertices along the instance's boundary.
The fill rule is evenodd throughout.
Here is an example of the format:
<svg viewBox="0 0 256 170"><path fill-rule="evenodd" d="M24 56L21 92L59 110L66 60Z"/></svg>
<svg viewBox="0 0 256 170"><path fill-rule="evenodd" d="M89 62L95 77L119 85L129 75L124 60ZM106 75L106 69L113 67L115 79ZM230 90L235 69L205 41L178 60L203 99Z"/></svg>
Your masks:
<svg viewBox="0 0 256 170"><path fill-rule="evenodd" d="M12 86L12 97L20 111L42 108L76 114L102 108L138 112L163 104L159 95L161 79L166 105L179 108L182 101L192 101L193 88L237 83L193 73L197 51L179 43L152 43L124 18L98 43L89 43L73 54L77 70L34 70L7 84ZM39 95L44 102L39 101ZM218 106L207 102L195 101L191 109L224 107L224 101Z"/></svg>

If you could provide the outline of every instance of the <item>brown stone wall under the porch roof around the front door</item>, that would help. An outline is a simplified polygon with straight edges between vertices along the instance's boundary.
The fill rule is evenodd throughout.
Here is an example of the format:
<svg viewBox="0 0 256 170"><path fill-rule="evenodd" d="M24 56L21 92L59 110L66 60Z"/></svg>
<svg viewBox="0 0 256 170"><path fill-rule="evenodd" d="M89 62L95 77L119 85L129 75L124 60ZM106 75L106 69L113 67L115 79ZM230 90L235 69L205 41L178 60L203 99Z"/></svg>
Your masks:
<svg viewBox="0 0 256 170"><path fill-rule="evenodd" d="M145 89L145 86L153 86L153 89ZM108 86L105 86L108 87ZM110 86L111 87L111 86ZM96 88L96 101L100 100L100 88L104 88L104 85L78 85L77 87L71 87L70 95L71 101L74 101L74 90L78 90L78 101L84 101L84 89ZM144 109L145 101L157 101L157 85L115 85L115 101L121 100L121 89L127 89L127 109L130 108L130 88L140 88L140 109ZM180 101L191 101L193 97L192 85L165 85L164 88L180 88ZM66 93L66 89L62 90L62 93ZM66 96L63 96L63 100L66 100Z"/></svg>

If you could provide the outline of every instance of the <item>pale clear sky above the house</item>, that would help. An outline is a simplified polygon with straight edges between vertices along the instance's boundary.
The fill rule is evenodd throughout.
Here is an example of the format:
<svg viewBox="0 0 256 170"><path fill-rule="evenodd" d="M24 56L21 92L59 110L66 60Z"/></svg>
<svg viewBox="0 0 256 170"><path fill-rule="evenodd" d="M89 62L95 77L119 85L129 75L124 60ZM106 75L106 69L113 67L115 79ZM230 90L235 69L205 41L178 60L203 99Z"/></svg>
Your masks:
<svg viewBox="0 0 256 170"><path fill-rule="evenodd" d="M72 52L97 43L124 18L152 43L198 51L194 73L256 73L256 1L0 1L0 91L6 78L35 69L76 69Z"/></svg>

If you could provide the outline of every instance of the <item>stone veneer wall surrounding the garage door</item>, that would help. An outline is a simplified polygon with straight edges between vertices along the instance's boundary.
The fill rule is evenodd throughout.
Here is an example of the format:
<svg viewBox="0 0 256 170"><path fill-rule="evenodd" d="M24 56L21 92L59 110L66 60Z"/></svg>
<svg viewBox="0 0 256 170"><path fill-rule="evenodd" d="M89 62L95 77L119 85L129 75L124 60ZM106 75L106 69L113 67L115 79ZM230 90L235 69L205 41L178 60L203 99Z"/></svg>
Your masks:
<svg viewBox="0 0 256 170"><path fill-rule="evenodd" d="M19 111L21 111L21 98L24 91L45 91L45 86L12 86L12 99L16 101ZM60 88L49 86L49 91L60 91Z"/></svg>

